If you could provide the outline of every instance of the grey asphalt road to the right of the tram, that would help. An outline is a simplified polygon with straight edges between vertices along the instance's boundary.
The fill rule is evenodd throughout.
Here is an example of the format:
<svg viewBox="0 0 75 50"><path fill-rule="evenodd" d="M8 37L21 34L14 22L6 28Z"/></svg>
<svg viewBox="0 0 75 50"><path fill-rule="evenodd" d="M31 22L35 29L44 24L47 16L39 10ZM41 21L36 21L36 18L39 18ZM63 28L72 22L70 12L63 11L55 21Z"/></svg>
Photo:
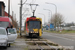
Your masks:
<svg viewBox="0 0 75 50"><path fill-rule="evenodd" d="M44 32L42 37L62 46L74 47L75 50L75 35Z"/></svg>

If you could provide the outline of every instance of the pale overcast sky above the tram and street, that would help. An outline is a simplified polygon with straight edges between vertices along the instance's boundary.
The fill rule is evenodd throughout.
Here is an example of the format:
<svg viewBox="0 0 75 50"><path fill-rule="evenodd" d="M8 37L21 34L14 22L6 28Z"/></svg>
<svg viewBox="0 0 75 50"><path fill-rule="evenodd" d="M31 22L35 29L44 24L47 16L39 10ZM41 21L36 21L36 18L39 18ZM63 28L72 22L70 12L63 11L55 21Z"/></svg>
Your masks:
<svg viewBox="0 0 75 50"><path fill-rule="evenodd" d="M11 1L11 12L14 11L14 13L16 14L16 19L19 21L20 6L18 4L20 3L20 0L10 0L10 1ZM25 0L23 0L23 2L24 1ZM4 2L6 5L5 11L8 12L8 0L4 0ZM66 23L75 22L75 0L33 0L33 2L32 0L27 0L26 3L39 4L39 6L36 9L36 16L41 17L44 23L44 16L38 13L42 13L45 15L45 22L48 22L48 19L51 18L51 16L49 17L49 11L43 9L49 9L52 11L52 14L55 13L55 6L51 4L46 4L45 2L56 4L57 12L63 15ZM23 5L23 11L25 8L30 9L28 5ZM31 13L31 11L26 13Z"/></svg>

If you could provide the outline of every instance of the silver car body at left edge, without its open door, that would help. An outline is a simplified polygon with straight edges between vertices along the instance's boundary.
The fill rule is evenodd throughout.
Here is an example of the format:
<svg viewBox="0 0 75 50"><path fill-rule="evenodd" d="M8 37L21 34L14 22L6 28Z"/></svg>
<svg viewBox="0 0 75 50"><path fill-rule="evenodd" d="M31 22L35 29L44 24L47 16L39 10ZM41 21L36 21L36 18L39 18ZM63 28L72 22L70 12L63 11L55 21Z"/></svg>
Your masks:
<svg viewBox="0 0 75 50"><path fill-rule="evenodd" d="M5 28L0 27L0 46L4 46L4 48L7 48L8 44L8 36L7 31Z"/></svg>

